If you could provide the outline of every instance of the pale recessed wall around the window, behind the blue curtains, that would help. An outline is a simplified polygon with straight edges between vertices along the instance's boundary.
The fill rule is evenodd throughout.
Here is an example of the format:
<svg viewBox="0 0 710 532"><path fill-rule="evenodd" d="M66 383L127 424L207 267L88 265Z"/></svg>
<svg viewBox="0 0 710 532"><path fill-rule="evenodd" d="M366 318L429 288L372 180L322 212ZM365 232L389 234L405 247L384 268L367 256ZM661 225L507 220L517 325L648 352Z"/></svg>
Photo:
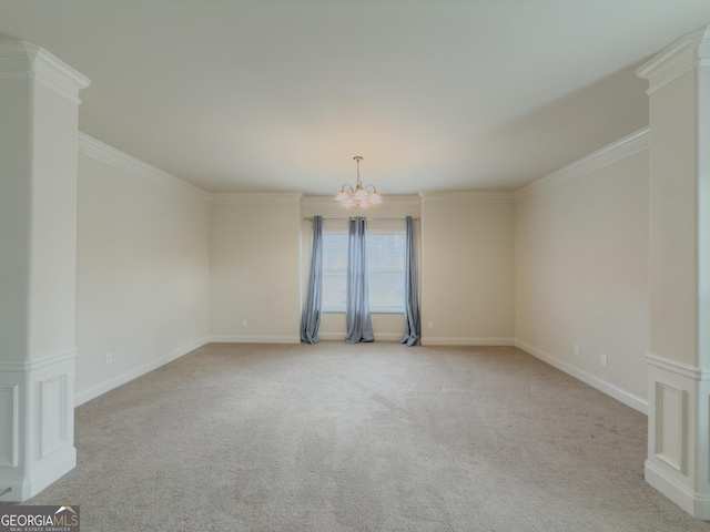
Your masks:
<svg viewBox="0 0 710 532"><path fill-rule="evenodd" d="M305 300L305 290L308 287L308 270L311 267L311 244L313 239L313 225L308 219L313 216L325 218L343 219L344 223L349 216L366 216L367 218L402 218L404 227L405 216L418 218L422 214L419 196L388 196L381 205L362 209L358 207L344 208L333 201L334 196L307 196L303 198L301 212L301 234L302 234L302 276L301 296ZM327 223L327 221L326 221ZM371 222L371 225L377 222ZM386 222L390 223L390 222ZM345 225L347 227L347 225ZM419 221L415 222L417 246L420 245L418 235L420 233ZM374 313L371 315L375 341L399 341L404 335L404 315L402 313ZM322 340L344 340L347 336L345 313L326 313L321 317L318 338Z"/></svg>

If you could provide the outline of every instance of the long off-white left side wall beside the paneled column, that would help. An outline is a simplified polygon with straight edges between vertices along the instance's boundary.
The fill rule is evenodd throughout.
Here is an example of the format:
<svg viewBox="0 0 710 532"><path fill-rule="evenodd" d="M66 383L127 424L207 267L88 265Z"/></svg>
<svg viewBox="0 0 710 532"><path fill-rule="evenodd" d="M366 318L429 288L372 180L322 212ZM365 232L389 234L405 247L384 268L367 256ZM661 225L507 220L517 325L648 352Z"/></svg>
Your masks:
<svg viewBox="0 0 710 532"><path fill-rule="evenodd" d="M81 403L207 341L210 206L85 154L78 203Z"/></svg>

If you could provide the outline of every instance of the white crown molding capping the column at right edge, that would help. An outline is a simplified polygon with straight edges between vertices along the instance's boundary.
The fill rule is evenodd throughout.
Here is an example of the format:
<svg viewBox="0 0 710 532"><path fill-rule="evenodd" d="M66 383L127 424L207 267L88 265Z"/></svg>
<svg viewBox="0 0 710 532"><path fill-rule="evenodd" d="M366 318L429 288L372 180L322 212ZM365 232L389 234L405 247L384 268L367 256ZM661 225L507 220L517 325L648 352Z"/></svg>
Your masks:
<svg viewBox="0 0 710 532"><path fill-rule="evenodd" d="M636 75L648 80L651 94L710 59L710 25L673 41L639 66Z"/></svg>

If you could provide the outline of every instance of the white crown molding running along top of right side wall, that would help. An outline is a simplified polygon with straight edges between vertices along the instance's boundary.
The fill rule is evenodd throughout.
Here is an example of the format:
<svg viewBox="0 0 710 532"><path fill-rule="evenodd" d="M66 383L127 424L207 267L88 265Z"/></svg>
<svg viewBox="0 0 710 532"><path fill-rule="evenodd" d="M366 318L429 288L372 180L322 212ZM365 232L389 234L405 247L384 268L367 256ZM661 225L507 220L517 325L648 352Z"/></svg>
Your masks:
<svg viewBox="0 0 710 532"><path fill-rule="evenodd" d="M596 170L621 161L649 147L649 129L643 127L601 150L576 161L514 193L516 202L561 186Z"/></svg>

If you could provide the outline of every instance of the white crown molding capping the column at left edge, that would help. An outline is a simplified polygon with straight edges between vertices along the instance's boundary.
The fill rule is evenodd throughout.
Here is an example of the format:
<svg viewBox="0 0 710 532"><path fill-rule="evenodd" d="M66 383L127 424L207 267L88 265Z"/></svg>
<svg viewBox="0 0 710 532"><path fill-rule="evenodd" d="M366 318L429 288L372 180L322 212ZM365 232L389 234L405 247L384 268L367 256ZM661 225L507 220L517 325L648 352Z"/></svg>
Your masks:
<svg viewBox="0 0 710 532"><path fill-rule="evenodd" d="M0 40L0 78L34 78L77 104L79 91L91 84L43 48L19 39Z"/></svg>

